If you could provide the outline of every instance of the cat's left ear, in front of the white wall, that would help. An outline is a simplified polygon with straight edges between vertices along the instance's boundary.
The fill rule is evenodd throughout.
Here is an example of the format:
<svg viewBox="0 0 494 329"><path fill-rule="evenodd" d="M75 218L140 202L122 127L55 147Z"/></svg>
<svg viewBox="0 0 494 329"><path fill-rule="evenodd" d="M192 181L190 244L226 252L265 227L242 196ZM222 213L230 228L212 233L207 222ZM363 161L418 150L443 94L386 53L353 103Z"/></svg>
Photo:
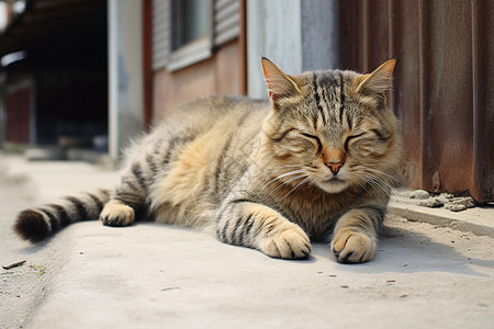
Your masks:
<svg viewBox="0 0 494 329"><path fill-rule="evenodd" d="M269 98L271 100L276 101L300 92L294 78L285 75L271 60L262 57L261 65L265 80L269 89Z"/></svg>

